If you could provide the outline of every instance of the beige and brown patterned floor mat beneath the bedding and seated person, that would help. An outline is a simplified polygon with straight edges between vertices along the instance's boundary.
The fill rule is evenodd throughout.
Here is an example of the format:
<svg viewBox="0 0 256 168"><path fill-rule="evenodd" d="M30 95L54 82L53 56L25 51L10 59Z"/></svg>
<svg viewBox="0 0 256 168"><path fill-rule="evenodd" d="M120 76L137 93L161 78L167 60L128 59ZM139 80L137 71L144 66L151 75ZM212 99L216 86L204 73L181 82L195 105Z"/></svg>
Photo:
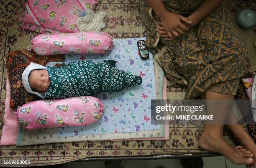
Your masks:
<svg viewBox="0 0 256 168"><path fill-rule="evenodd" d="M22 0L23 2L24 0ZM100 0L97 10L108 13L105 18L105 32L115 38L132 38L145 36L143 16L139 9L140 0ZM254 0L225 0L224 5L234 22L235 15L243 8L256 10ZM5 81L6 69L3 57L9 51L27 48L30 45L31 36L35 33L18 29L16 21L23 10L23 3L16 0L0 1L0 130L3 127L3 115L5 106ZM256 57L253 53L253 39L256 39L256 27L238 28L241 38L248 49L247 68L256 70ZM156 64L156 62L154 62ZM167 84L167 96L172 98L182 97L181 89L174 89ZM202 125L189 125L181 127L170 125L170 140L151 141L99 141L99 142L75 142L75 143L51 143L46 145L31 146L1 146L1 160L30 160L31 165L50 165L78 160L86 157L107 156L139 156L162 155L173 153L207 153L198 147L198 140L202 134ZM1 133L1 131L0 131ZM233 144L230 135L225 133L225 140ZM0 165L3 163L0 163ZM1 165L15 166L15 165ZM20 165L19 165L20 166Z"/></svg>

